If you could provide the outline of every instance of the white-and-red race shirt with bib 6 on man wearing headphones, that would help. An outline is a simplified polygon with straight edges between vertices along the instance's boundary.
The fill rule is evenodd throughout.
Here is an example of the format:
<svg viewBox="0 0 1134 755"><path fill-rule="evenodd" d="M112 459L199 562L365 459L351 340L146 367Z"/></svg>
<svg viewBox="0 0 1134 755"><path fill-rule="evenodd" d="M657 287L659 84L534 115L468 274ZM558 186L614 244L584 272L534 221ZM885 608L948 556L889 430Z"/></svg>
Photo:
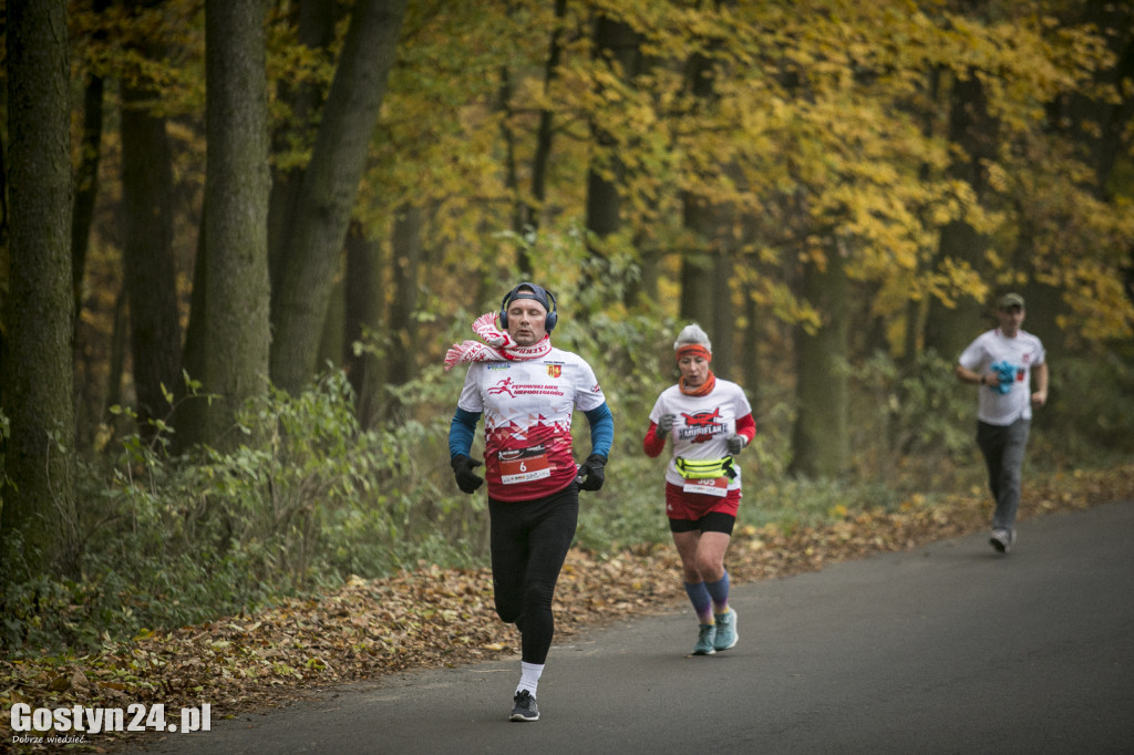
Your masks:
<svg viewBox="0 0 1134 755"><path fill-rule="evenodd" d="M524 362L476 362L457 407L484 416L484 478L499 501L528 501L575 480L572 416L606 402L577 354L551 349Z"/></svg>

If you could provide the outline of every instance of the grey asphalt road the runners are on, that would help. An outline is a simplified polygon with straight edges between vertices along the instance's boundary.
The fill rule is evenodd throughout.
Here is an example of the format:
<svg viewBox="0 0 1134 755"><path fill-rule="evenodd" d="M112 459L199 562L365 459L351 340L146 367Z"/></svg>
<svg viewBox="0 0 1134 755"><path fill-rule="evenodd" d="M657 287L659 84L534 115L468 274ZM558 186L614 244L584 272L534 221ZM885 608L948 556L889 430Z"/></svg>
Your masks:
<svg viewBox="0 0 1134 755"><path fill-rule="evenodd" d="M677 575L675 575L677 578ZM337 688L146 753L1132 753L1134 502L734 587L741 642L687 656L684 605L518 660Z"/></svg>

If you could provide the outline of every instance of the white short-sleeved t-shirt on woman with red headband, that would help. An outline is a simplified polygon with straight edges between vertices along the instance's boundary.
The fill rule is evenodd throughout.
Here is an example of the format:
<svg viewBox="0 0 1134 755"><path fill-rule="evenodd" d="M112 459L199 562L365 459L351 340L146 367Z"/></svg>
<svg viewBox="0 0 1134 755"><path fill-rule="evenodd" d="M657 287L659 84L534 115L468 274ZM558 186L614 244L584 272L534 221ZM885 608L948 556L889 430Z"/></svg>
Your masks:
<svg viewBox="0 0 1134 755"><path fill-rule="evenodd" d="M674 427L669 431L672 456L666 467L666 482L682 485L685 481L677 472L675 459L710 460L729 456L726 439L736 432L737 419L752 414L752 406L743 388L718 378L706 396L686 396L677 385L663 390L650 410L650 421L658 424L666 414L675 415ZM741 467L733 468L736 477L729 481L729 490L741 486Z"/></svg>

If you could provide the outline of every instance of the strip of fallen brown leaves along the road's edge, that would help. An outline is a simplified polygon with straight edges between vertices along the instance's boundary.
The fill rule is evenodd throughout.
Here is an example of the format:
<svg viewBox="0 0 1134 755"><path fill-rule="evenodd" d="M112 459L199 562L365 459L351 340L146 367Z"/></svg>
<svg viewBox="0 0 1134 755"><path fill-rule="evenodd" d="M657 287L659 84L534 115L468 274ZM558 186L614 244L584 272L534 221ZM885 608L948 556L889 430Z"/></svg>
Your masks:
<svg viewBox="0 0 1134 755"><path fill-rule="evenodd" d="M1132 500L1134 464L1055 475L1025 484L1025 497L1024 517ZM743 527L729 550L729 571L734 583L784 577L962 536L987 527L987 508L979 495L934 506L914 497L896 512L846 512L819 527ZM668 545L609 558L572 551L556 595L557 641L613 618L679 605L684 593L677 574L677 557ZM486 569L423 565L387 579L352 579L320 600L146 633L129 643L107 642L96 654L0 660L0 752L11 747L8 711L19 702L51 709L163 703L174 722L180 707L211 703L215 719L335 684L517 651L518 634L493 613ZM125 737L94 739L88 747L102 750Z"/></svg>

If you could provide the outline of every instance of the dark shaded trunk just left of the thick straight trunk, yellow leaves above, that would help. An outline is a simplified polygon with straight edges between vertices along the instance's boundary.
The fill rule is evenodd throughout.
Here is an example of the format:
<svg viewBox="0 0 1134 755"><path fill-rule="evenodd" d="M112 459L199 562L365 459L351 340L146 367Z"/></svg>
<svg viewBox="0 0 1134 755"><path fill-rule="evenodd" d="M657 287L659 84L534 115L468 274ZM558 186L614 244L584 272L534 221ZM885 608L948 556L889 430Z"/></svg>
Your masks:
<svg viewBox="0 0 1134 755"><path fill-rule="evenodd" d="M181 326L174 258L174 175L164 118L145 111L156 93L122 86L122 249L134 387L141 432L168 419L164 391L181 393Z"/></svg>

